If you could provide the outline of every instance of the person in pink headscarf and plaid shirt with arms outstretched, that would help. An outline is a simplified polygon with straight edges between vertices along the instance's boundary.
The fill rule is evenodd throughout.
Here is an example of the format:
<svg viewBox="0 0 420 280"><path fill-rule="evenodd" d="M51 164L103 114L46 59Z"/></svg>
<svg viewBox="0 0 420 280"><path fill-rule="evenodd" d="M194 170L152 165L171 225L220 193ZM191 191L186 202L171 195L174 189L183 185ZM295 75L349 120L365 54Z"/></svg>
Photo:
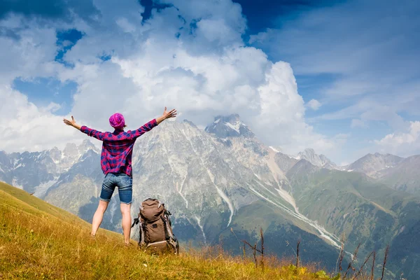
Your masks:
<svg viewBox="0 0 420 280"><path fill-rule="evenodd" d="M138 137L150 131L153 127L162 123L168 118L175 118L176 110L165 111L162 116L155 118L146 123L138 130L124 131L125 120L120 113L115 113L109 118L109 124L115 130L114 132L99 132L92 130L85 125L80 126L76 123L73 116L71 120L63 119L66 125L70 125L81 132L94 137L103 142L101 153L101 167L105 174L104 183L102 183L102 191L99 198L99 205L97 211L94 213L92 221L92 232L90 235L95 238L99 225L102 223L102 218L108 204L111 200L113 191L118 187L118 195L120 197L121 214L123 215L123 232L124 242L130 245L130 231L131 231L131 202L132 202L132 153L133 146Z"/></svg>

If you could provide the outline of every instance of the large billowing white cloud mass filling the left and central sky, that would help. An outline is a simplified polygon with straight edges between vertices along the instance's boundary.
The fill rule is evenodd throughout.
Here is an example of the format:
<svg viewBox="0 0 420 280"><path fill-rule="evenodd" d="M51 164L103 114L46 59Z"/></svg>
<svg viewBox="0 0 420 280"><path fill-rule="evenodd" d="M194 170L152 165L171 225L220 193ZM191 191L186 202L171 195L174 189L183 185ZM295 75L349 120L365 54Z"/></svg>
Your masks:
<svg viewBox="0 0 420 280"><path fill-rule="evenodd" d="M304 101L297 92L290 64L273 63L261 50L244 45L241 34L246 24L237 3L174 2L178 10L154 12L146 25L141 25L139 14L130 13L136 10L134 7L113 10L104 3L98 7L103 16L93 24L80 19L73 26L55 22L56 28L76 27L86 34L64 56L74 64L71 69L52 62L57 48L52 27L44 27L49 31L44 41L45 36L33 38L42 31L37 25L25 34L21 31L25 41L36 41L25 50L38 48L41 57L25 57L31 67L17 66L3 85L10 85L18 75L37 76L34 69L39 66L48 70L41 71L43 75L75 80L78 91L71 114L78 122L99 130L109 130L108 118L116 111L124 113L127 124L134 128L168 106L199 127L218 114L239 113L258 137L281 146L286 153L312 147L331 155L344 144L345 135L328 138L307 125ZM191 21L197 18L202 20L190 29ZM22 43L9 43L10 50L1 50L10 59L22 59L21 50L16 49ZM102 62L98 57L104 53L112 54L112 58ZM0 150L34 151L83 137L64 126L62 117L52 114L57 109L55 104L37 108L25 95L11 92L2 93L2 99L15 111L0 112ZM316 100L311 104L314 108L321 106ZM29 132L30 137L25 138Z"/></svg>

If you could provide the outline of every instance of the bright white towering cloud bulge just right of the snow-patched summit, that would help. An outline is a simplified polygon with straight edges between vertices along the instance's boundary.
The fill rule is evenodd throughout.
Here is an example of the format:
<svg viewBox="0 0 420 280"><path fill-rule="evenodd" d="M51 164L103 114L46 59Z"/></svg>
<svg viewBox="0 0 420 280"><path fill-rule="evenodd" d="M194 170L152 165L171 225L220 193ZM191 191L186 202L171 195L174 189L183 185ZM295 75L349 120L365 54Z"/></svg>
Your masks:
<svg viewBox="0 0 420 280"><path fill-rule="evenodd" d="M286 153L295 154L312 147L318 153L332 155L342 144L342 137L328 139L305 123L304 102L297 94L290 64L276 62L265 80L258 87L260 114L253 123L257 135L271 146L281 146Z"/></svg>

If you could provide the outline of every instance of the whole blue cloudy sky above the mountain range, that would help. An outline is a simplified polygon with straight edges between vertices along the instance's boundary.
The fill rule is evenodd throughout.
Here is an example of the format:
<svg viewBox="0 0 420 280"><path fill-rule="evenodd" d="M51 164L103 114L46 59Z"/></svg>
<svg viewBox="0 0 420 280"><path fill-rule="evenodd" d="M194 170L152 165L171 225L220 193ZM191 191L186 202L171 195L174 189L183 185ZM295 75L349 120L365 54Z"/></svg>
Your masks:
<svg viewBox="0 0 420 280"><path fill-rule="evenodd" d="M204 128L239 113L265 144L338 165L420 154L415 0L4 0L0 151L129 129L160 116ZM92 139L94 141L94 139Z"/></svg>

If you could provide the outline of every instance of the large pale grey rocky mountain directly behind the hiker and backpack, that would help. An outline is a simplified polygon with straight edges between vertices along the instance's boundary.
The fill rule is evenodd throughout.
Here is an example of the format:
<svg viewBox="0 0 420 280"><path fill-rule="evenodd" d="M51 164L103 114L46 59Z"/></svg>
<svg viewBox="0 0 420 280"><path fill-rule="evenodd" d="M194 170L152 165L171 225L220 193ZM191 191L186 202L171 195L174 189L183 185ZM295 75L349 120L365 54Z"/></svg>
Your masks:
<svg viewBox="0 0 420 280"><path fill-rule="evenodd" d="M142 200L157 197L172 211L174 230L183 241L196 246L222 241L226 249L240 253L230 229L253 241L262 227L268 251L293 255L286 241L300 237L308 251L319 252L303 258L323 260L332 269L337 237L296 211L276 153L250 133L225 139L229 145L188 121L165 122L144 134L133 153L132 214ZM91 221L102 179L99 155L87 153L43 198ZM106 228L120 231L118 208L114 197L104 218Z"/></svg>

